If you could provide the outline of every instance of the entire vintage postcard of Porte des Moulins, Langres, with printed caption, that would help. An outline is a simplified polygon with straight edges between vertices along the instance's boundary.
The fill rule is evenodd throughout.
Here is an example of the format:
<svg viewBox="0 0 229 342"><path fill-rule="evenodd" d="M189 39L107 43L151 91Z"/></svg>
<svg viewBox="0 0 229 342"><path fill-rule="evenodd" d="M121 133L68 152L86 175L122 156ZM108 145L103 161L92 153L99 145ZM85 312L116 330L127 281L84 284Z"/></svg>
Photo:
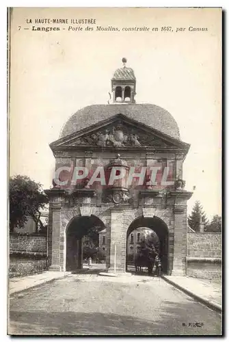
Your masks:
<svg viewBox="0 0 229 342"><path fill-rule="evenodd" d="M8 9L8 334L222 334L221 44L221 8Z"/></svg>

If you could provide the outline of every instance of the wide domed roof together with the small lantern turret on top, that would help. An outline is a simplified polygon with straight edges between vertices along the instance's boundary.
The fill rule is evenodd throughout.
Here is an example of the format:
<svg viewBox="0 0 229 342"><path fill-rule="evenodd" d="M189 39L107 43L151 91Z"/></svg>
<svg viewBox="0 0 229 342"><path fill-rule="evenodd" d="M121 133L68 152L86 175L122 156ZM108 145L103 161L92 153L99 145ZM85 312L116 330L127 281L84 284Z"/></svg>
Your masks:
<svg viewBox="0 0 229 342"><path fill-rule="evenodd" d="M135 74L132 68L126 68L126 58L122 58L122 62L123 68L118 68L111 79L113 103L79 109L64 124L60 137L85 129L116 114L123 114L180 140L178 125L168 111L157 105L135 103Z"/></svg>

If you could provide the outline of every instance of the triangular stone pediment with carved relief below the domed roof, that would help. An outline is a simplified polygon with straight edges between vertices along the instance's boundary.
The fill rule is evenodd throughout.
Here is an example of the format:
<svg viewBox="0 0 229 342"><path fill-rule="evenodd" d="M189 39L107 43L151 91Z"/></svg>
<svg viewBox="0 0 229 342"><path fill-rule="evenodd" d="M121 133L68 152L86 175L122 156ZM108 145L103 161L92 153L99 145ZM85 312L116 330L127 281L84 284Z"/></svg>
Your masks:
<svg viewBox="0 0 229 342"><path fill-rule="evenodd" d="M148 127L146 124L116 114L109 120L93 124L87 129L73 133L53 142L55 148L189 148L189 144L180 142L164 133Z"/></svg>

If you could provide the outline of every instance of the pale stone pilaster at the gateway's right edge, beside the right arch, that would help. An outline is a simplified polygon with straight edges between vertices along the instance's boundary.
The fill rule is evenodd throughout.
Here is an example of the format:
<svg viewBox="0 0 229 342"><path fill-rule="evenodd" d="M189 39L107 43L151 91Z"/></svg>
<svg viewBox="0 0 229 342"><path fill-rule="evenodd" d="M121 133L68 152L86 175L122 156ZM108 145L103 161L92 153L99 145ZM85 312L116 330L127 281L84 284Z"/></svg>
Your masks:
<svg viewBox="0 0 229 342"><path fill-rule="evenodd" d="M172 276L185 276L187 254L187 222L184 208L174 207L174 260Z"/></svg>

